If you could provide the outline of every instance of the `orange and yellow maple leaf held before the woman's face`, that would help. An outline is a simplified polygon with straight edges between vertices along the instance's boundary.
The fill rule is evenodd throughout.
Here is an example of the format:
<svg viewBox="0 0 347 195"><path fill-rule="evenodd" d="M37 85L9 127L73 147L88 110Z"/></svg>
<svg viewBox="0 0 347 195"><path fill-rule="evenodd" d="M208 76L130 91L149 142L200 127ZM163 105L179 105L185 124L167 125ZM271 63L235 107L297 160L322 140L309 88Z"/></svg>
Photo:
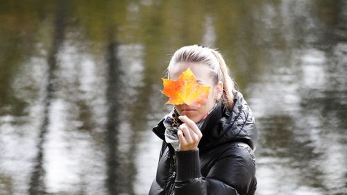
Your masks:
<svg viewBox="0 0 347 195"><path fill-rule="evenodd" d="M190 68L180 75L178 80L162 78L164 85L163 94L169 97L165 104L172 105L201 105L201 102L208 99L210 86L199 85Z"/></svg>

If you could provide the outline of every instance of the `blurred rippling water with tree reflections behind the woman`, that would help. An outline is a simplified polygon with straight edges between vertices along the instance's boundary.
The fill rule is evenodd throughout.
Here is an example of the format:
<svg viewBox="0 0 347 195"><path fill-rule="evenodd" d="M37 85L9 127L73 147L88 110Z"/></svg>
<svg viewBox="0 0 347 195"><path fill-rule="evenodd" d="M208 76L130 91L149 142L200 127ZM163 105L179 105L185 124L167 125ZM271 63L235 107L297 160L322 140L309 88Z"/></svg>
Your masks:
<svg viewBox="0 0 347 195"><path fill-rule="evenodd" d="M147 194L170 55L219 48L259 130L259 195L347 194L347 1L0 6L0 194Z"/></svg>

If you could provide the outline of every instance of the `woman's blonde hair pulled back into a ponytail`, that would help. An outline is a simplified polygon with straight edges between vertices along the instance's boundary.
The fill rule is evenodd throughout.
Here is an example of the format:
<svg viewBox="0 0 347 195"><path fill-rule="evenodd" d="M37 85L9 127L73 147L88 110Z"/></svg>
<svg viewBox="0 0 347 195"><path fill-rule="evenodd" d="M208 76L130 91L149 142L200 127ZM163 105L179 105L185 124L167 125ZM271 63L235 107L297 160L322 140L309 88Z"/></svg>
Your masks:
<svg viewBox="0 0 347 195"><path fill-rule="evenodd" d="M230 110L232 109L234 106L234 94L232 90L234 90L235 83L230 78L229 69L219 51L196 44L181 47L174 53L174 56L171 57L169 67L167 67L168 77L170 77L170 68L178 62L198 62L208 65L211 69L215 85L217 85L219 81L223 83L221 101L225 103Z"/></svg>

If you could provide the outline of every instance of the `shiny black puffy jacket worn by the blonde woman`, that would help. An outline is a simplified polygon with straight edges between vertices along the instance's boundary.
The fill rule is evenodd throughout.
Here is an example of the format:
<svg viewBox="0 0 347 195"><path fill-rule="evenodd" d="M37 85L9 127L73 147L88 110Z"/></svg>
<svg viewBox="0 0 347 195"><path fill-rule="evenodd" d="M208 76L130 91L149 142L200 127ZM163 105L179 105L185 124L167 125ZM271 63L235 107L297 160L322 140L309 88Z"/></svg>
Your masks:
<svg viewBox="0 0 347 195"><path fill-rule="evenodd" d="M228 110L219 103L201 127L203 137L195 151L175 151L162 143L157 175L149 195L205 195L255 193L257 130L251 109L241 93ZM164 140L160 121L153 132Z"/></svg>

